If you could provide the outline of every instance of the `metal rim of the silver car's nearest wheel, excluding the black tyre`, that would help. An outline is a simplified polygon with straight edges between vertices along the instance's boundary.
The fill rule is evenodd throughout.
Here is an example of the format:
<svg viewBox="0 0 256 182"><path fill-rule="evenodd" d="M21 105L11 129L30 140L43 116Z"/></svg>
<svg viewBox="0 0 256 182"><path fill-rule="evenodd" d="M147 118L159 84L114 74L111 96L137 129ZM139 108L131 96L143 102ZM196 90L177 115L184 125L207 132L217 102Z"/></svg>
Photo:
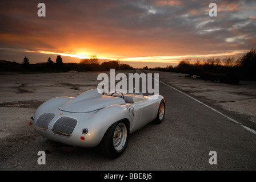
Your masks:
<svg viewBox="0 0 256 182"><path fill-rule="evenodd" d="M121 151L123 147L125 147L127 139L127 129L124 123L119 123L117 127L115 127L114 135L113 135L113 145L115 150Z"/></svg>

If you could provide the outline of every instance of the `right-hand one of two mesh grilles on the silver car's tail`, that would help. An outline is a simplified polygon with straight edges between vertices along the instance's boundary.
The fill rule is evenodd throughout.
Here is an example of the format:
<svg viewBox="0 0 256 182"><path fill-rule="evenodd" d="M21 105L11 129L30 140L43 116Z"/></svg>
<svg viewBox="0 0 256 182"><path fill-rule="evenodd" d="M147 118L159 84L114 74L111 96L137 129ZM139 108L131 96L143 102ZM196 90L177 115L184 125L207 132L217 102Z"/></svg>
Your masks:
<svg viewBox="0 0 256 182"><path fill-rule="evenodd" d="M77 126L77 119L61 117L54 123L52 131L55 134L70 137L75 126Z"/></svg>

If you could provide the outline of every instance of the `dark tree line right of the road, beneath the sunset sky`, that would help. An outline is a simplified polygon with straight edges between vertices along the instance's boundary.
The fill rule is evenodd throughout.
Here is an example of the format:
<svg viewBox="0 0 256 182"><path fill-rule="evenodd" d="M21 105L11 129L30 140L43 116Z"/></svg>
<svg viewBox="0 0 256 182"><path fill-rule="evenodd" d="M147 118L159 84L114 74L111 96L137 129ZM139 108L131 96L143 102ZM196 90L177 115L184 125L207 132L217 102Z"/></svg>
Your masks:
<svg viewBox="0 0 256 182"><path fill-rule="evenodd" d="M144 69L148 68L144 67ZM176 67L167 65L165 68L155 67L152 70L186 73L189 76L197 75L205 80L218 80L230 84L237 84L239 80L256 81L256 49L250 49L237 60L234 57L184 59L179 61Z"/></svg>

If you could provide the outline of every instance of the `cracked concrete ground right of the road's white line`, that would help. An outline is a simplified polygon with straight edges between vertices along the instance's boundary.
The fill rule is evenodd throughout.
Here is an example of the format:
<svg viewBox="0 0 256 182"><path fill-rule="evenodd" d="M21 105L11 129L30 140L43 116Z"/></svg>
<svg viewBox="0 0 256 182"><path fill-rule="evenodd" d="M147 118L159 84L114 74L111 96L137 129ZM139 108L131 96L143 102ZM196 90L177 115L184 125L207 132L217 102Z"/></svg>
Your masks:
<svg viewBox="0 0 256 182"><path fill-rule="evenodd" d="M249 126L256 129L256 82L240 81L239 85L205 81L185 77L187 74L146 71L159 73L159 79L175 88L189 93L211 105L243 115Z"/></svg>

